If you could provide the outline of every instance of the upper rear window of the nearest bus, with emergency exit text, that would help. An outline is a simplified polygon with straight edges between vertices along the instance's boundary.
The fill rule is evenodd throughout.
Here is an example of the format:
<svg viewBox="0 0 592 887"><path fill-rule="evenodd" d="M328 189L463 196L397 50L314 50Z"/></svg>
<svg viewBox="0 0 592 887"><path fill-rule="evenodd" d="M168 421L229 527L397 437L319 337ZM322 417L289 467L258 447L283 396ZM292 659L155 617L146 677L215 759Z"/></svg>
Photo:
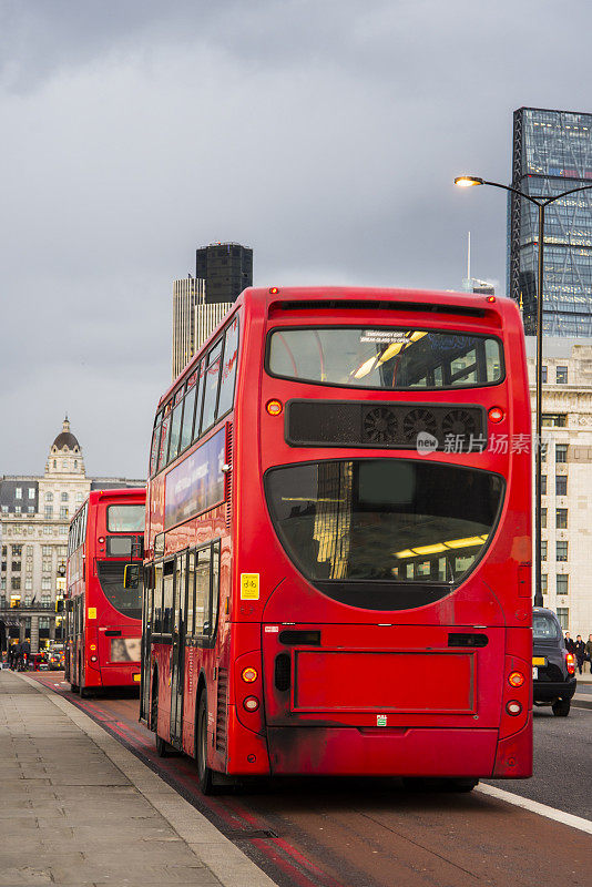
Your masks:
<svg viewBox="0 0 592 887"><path fill-rule="evenodd" d="M348 388L468 388L503 378L497 338L404 327L284 327L272 330L273 376Z"/></svg>

